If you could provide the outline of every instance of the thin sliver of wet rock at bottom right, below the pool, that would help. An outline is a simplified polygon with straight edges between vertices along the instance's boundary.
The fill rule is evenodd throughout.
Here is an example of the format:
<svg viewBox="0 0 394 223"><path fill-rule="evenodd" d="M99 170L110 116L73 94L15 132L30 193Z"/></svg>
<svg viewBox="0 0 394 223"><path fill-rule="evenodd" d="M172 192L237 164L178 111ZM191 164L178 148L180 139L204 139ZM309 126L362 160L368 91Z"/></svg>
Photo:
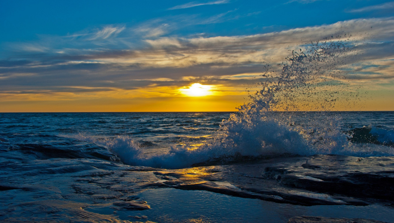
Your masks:
<svg viewBox="0 0 394 223"><path fill-rule="evenodd" d="M364 218L333 218L333 217L312 217L300 216L292 217L287 223L385 223Z"/></svg>

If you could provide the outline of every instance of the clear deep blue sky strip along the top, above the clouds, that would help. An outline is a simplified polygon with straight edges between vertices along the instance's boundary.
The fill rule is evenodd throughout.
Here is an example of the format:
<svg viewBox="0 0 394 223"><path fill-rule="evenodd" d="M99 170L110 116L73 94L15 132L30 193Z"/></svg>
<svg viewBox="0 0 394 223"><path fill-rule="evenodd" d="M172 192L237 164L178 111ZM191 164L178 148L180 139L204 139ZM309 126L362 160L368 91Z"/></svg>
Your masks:
<svg viewBox="0 0 394 223"><path fill-rule="evenodd" d="M379 5L382 8L374 9ZM35 40L39 35L65 36L105 24L135 26L155 22L178 26L167 35L250 35L349 19L390 17L393 5L384 0L2 1L0 21L6 32L0 41L4 44ZM187 24L179 24L185 21Z"/></svg>

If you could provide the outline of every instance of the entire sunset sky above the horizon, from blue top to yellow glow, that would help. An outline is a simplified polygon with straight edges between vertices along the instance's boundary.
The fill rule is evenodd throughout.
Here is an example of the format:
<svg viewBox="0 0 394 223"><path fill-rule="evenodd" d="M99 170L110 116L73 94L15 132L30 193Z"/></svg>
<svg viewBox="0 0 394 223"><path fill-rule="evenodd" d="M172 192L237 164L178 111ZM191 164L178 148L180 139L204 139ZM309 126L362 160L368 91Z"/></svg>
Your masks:
<svg viewBox="0 0 394 223"><path fill-rule="evenodd" d="M0 30L0 112L236 111L266 64L331 36L362 92L335 109L394 111L394 1L14 0Z"/></svg>

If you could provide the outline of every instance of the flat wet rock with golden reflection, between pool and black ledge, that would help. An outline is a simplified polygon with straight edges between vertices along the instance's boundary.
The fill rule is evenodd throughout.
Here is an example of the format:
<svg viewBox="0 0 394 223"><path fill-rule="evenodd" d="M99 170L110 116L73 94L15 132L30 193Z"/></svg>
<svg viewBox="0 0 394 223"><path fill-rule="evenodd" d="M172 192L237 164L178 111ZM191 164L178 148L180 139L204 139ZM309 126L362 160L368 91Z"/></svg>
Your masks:
<svg viewBox="0 0 394 223"><path fill-rule="evenodd" d="M299 162L298 159L299 158L290 158L290 161L294 164L294 162ZM307 159L307 157L301 158L300 165L305 163L305 159ZM160 185L150 184L150 186L166 186L184 190L204 190L234 197L261 199L264 201L305 206L338 204L368 205L366 202L358 199L283 186L277 182L277 180L270 180L260 176L261 171L266 165L269 164L238 164L154 172L156 176L166 178L167 180L161 182ZM212 172L212 169L215 171ZM286 171L292 173L299 172L284 168L282 169L282 174Z"/></svg>

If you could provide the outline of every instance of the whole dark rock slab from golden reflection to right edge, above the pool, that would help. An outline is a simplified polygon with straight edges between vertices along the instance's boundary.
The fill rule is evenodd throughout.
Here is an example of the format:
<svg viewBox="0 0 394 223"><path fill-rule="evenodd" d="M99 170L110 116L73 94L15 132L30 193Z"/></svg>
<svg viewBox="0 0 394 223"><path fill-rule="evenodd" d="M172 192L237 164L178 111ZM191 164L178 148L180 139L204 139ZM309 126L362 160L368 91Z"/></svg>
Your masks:
<svg viewBox="0 0 394 223"><path fill-rule="evenodd" d="M315 155L162 170L147 187L206 190L299 205L394 203L394 158Z"/></svg>

